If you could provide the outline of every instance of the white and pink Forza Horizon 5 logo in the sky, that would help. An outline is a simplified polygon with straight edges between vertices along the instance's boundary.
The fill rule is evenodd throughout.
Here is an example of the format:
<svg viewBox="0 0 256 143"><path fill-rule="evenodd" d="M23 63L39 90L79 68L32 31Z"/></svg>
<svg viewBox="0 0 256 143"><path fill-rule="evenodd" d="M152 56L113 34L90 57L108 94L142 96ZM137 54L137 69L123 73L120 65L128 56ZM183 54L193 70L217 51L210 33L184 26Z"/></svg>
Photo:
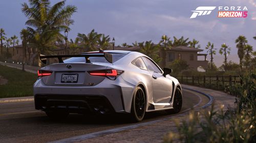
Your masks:
<svg viewBox="0 0 256 143"><path fill-rule="evenodd" d="M197 16L209 15L214 11L216 7L197 7L192 11L190 18L196 18ZM248 16L247 7L218 7L218 17L240 17L246 18Z"/></svg>

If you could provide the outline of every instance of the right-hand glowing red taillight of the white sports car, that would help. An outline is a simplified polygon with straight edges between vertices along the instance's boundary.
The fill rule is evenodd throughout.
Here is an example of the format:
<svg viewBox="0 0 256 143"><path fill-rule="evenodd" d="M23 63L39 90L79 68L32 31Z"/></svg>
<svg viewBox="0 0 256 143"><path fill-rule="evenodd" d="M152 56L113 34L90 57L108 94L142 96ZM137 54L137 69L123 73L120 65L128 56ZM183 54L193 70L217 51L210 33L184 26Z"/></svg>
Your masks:
<svg viewBox="0 0 256 143"><path fill-rule="evenodd" d="M123 71L121 70L100 70L100 71L89 71L90 75L95 76L106 76L112 80L115 80L118 75L120 75Z"/></svg>

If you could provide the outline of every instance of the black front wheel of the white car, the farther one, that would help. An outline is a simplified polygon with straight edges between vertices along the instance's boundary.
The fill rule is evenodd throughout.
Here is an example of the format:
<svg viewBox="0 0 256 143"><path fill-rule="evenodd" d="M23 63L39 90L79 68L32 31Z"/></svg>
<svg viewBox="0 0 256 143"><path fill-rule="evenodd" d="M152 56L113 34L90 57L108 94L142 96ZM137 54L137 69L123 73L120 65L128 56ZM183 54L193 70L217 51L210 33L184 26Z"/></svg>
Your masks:
<svg viewBox="0 0 256 143"><path fill-rule="evenodd" d="M165 110L167 113L178 113L182 107L182 93L179 88L175 91L173 109Z"/></svg>

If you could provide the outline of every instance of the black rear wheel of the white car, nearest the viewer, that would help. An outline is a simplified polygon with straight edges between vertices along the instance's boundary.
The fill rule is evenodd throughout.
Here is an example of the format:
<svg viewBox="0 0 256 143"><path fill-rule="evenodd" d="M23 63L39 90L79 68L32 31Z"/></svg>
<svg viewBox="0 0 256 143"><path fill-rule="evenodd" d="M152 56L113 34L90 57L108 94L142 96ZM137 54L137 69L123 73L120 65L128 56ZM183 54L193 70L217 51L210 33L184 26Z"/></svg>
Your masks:
<svg viewBox="0 0 256 143"><path fill-rule="evenodd" d="M145 115L146 99L143 90L137 87L132 101L131 117L134 122L141 122Z"/></svg>

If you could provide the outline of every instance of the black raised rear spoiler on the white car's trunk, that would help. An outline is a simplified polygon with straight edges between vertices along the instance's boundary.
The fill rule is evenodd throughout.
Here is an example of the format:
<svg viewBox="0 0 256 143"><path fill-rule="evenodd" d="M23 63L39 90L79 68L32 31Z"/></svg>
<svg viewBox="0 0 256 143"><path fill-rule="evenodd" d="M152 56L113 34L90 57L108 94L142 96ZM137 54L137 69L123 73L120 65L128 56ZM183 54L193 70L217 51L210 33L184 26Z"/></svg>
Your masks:
<svg viewBox="0 0 256 143"><path fill-rule="evenodd" d="M84 57L86 58L86 63L91 63L90 57L104 57L106 61L113 63L112 54L107 52L92 52L92 53L85 53L85 54L77 54L77 55L39 55L39 59L42 63L46 64L47 59L49 58L58 58L59 63L64 63L62 58L71 58L71 57Z"/></svg>

